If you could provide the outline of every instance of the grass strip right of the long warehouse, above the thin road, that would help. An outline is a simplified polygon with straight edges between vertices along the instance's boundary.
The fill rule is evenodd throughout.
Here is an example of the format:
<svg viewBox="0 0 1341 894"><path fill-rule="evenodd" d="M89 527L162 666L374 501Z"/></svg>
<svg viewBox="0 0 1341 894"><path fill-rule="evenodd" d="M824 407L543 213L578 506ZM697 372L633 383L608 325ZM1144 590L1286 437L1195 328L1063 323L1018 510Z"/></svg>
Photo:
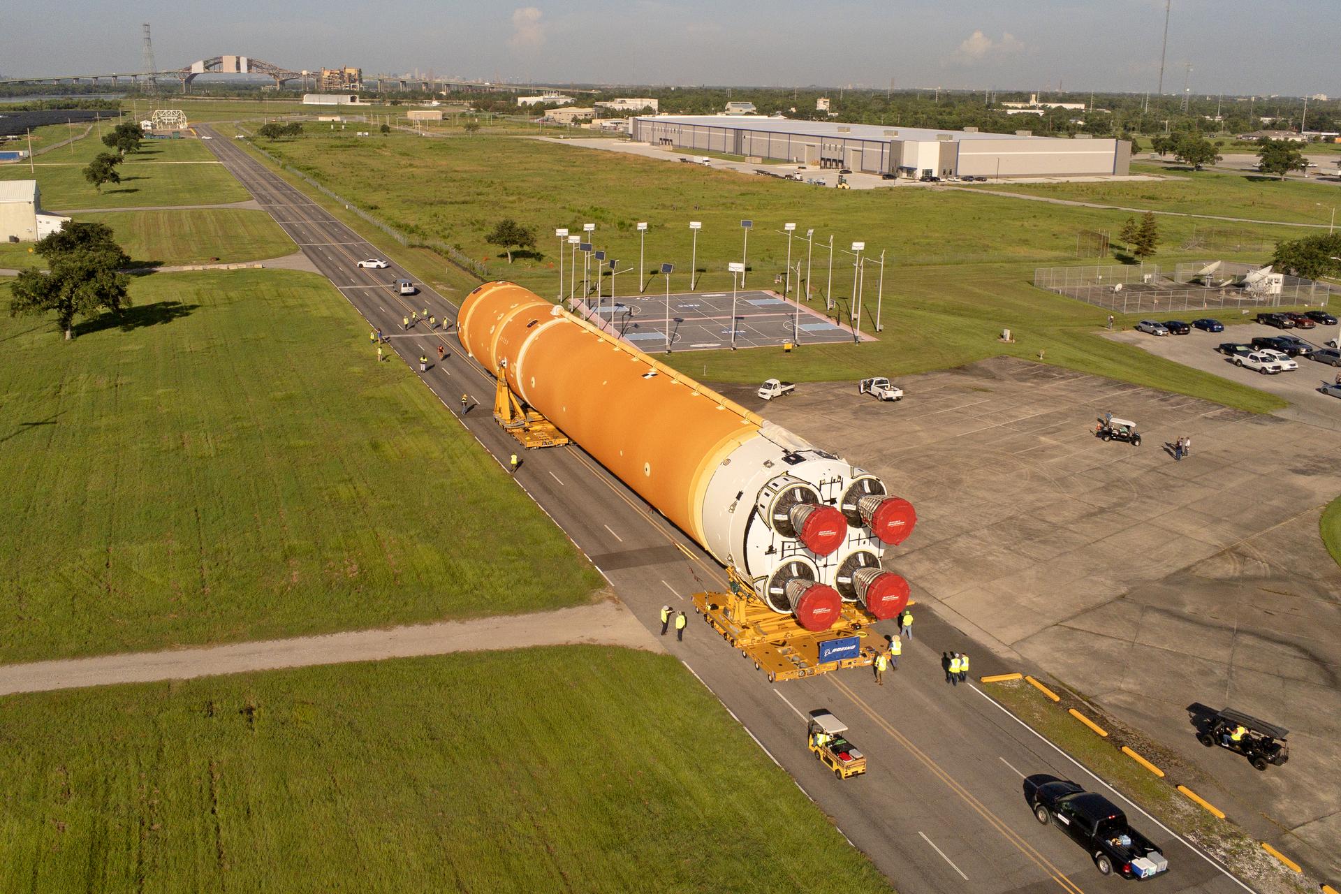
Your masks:
<svg viewBox="0 0 1341 894"><path fill-rule="evenodd" d="M1132 165L1132 173L1168 173L1163 168ZM1160 182L1108 184L1003 184L992 185L1027 196L1047 196L1104 205L1189 214L1218 214L1252 220L1328 225L1332 206L1341 202L1333 184L1275 180L1261 174L1230 174L1218 170L1180 170ZM1164 224L1165 221L1160 221ZM1207 225L1203 222L1203 227ZM1226 222L1224 227L1239 227ZM1290 236L1298 239L1309 231ZM1114 232L1116 239L1116 232Z"/></svg>

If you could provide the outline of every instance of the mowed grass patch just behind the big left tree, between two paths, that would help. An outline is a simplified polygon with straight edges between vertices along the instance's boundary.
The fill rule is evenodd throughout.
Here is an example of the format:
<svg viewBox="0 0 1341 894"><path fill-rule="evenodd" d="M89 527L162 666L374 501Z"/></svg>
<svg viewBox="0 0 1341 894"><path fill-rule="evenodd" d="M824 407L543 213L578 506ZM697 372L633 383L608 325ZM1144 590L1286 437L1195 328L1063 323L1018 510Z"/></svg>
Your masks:
<svg viewBox="0 0 1341 894"><path fill-rule="evenodd" d="M80 221L111 227L134 265L257 261L298 251L263 210L196 208L79 214ZM43 265L30 243L0 243L0 268Z"/></svg>

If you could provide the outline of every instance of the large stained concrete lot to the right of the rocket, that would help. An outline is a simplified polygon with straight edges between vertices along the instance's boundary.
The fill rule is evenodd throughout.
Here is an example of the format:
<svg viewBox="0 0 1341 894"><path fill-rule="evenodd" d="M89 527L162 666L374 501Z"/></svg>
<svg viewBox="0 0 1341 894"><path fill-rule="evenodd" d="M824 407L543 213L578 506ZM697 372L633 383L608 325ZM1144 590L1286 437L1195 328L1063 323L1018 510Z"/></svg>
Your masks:
<svg viewBox="0 0 1341 894"><path fill-rule="evenodd" d="M1148 340L1216 362L1219 336ZM1293 830L1295 851L1341 873L1341 568L1318 536L1341 493L1336 433L1010 358L896 383L897 403L854 382L767 405L721 387L912 500L917 528L886 564L923 604L1176 751L1180 776L1250 831ZM1144 444L1096 438L1104 411ZM1192 450L1176 462L1180 436ZM1289 728L1290 763L1259 773L1202 748L1195 701Z"/></svg>

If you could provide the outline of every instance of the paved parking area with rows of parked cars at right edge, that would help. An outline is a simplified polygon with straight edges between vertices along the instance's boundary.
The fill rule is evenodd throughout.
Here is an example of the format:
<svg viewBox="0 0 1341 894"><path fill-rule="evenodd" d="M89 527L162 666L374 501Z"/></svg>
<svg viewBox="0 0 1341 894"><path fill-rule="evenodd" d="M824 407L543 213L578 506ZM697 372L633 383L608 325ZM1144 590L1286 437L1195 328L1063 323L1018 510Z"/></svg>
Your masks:
<svg viewBox="0 0 1341 894"><path fill-rule="evenodd" d="M1152 319L1164 319L1161 316ZM1189 316L1181 318L1191 322ZM1137 347L1159 357L1176 361L1198 370L1214 373L1234 382L1242 382L1255 389L1285 398L1290 407L1281 410L1278 416L1298 422L1307 422L1321 428L1341 430L1341 399L1320 394L1318 386L1333 382L1341 370L1316 363L1306 358L1298 358L1298 370L1278 373L1275 375L1262 375L1252 370L1240 369L1234 362L1216 353L1215 346L1222 342L1248 343L1257 336L1297 334L1306 342L1321 346L1324 342L1337 338L1336 326L1320 326L1313 330L1278 330L1259 323L1243 326L1227 326L1223 332L1202 332L1192 330L1188 335L1147 335L1134 330L1114 332L1114 340L1136 344Z"/></svg>

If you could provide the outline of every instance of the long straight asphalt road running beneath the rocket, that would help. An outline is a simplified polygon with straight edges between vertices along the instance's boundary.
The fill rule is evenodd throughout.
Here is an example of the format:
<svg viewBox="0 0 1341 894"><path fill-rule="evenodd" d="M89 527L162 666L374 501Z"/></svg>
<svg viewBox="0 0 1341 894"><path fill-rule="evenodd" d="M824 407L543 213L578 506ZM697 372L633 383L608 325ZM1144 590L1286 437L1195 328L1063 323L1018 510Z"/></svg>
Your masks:
<svg viewBox="0 0 1341 894"><path fill-rule="evenodd" d="M456 413L500 464L508 454L522 453L491 418L492 377L459 351L451 327L402 330L401 320L412 308L455 319L449 302L430 290L413 299L400 298L392 285L409 277L404 269L394 264L386 269L354 267L358 260L380 256L374 245L232 141L216 138L211 147L369 324L389 334L396 355L412 366L421 355L433 358L421 378L443 401L444 411ZM441 363L436 362L439 344L448 351ZM350 350L377 362L366 342ZM469 403L465 413L459 406L463 393ZM688 611L693 619L691 594L724 586L716 563L579 448L531 452L522 458L518 485L601 568L649 629L660 631L662 603ZM1100 877L1089 856L1055 828L1039 826L1021 793L1022 773L1049 772L1088 788L1101 789L1102 784L1004 713L976 685L951 688L943 682L941 650L974 653L974 673L984 674L998 670L986 649L975 651L963 634L927 611L919 613L915 629L917 641L904 650L900 670L888 674L885 686L876 686L861 672L770 685L701 622L689 626L684 642L670 637L662 642L901 890L1126 890L1121 879ZM852 740L869 759L866 776L838 781L821 772L805 747L805 714L819 708L849 724ZM703 759L712 760L711 745ZM1126 810L1134 824L1165 848L1172 865L1168 875L1153 882L1155 890L1251 890L1134 806Z"/></svg>

